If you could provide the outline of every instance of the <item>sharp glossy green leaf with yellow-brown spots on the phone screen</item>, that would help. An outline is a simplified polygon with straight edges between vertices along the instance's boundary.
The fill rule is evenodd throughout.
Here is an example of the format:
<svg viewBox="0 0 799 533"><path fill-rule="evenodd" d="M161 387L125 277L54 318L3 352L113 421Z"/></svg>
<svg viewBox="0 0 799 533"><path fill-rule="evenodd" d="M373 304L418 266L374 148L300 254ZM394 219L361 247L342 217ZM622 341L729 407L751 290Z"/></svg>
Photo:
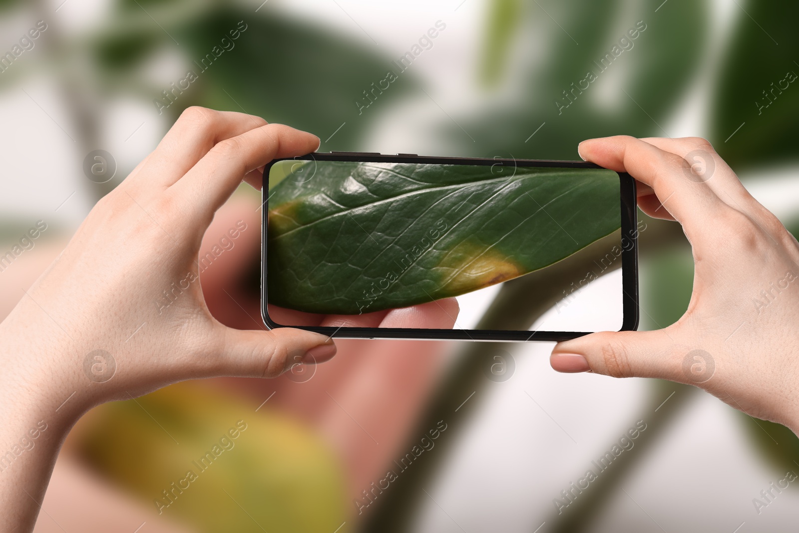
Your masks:
<svg viewBox="0 0 799 533"><path fill-rule="evenodd" d="M293 163L293 161L288 161ZM539 270L620 226L606 169L317 161L271 190L271 304L358 314ZM544 207L546 206L546 207Z"/></svg>

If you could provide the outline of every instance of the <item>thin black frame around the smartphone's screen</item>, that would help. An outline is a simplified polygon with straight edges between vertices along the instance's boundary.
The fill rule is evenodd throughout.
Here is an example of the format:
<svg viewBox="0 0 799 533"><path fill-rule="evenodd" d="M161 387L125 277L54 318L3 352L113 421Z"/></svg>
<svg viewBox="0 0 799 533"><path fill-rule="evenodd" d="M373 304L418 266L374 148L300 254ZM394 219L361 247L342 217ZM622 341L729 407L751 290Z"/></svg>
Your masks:
<svg viewBox="0 0 799 533"><path fill-rule="evenodd" d="M429 157L413 154L384 155L368 152L308 153L298 157L284 157L264 167L261 191L261 318L270 329L300 328L323 333L336 338L350 339L410 339L410 340L494 340L494 341L560 341L588 335L591 332L545 332L498 329L426 329L426 328L332 328L327 326L289 326L278 324L268 315L267 306L267 249L268 225L268 180L269 171L277 161L355 161L386 163L428 163L432 165L519 165L533 167L555 167L571 169L600 169L599 165L586 161L554 161L537 159L503 159L481 157ZM638 328L638 216L636 211L635 180L628 173L617 172L619 177L620 207L622 216L622 239L632 245L622 246L622 328L630 331Z"/></svg>

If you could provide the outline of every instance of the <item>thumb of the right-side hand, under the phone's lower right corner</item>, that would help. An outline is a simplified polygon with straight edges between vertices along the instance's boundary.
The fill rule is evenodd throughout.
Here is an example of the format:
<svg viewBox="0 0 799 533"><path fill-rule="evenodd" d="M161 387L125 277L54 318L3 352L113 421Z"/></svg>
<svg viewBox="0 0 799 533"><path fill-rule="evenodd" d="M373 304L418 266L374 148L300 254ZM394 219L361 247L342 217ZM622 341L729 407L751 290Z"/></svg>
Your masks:
<svg viewBox="0 0 799 533"><path fill-rule="evenodd" d="M674 380L673 344L663 330L591 333L555 344L550 364L558 372Z"/></svg>

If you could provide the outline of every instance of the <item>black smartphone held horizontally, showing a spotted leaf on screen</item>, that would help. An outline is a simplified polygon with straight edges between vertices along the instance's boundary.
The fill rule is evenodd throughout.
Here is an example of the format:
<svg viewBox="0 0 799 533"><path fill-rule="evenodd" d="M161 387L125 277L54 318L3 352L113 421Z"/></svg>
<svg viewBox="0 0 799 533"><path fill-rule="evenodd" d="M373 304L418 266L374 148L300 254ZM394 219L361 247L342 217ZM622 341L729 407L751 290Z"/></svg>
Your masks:
<svg viewBox="0 0 799 533"><path fill-rule="evenodd" d="M629 174L585 161L309 153L267 165L262 194L268 328L551 341L638 327L646 226ZM454 328L403 327L431 309Z"/></svg>

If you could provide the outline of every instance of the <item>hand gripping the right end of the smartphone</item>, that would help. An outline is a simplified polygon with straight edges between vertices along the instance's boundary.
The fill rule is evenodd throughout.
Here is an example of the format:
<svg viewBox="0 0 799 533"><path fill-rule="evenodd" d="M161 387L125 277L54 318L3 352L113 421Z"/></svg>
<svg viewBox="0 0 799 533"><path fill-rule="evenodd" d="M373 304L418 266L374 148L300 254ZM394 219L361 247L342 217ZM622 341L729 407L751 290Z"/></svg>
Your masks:
<svg viewBox="0 0 799 533"><path fill-rule="evenodd" d="M552 368L694 384L799 434L797 240L704 139L606 137L578 150L638 180L644 213L682 225L694 291L669 327L567 340L555 346Z"/></svg>

